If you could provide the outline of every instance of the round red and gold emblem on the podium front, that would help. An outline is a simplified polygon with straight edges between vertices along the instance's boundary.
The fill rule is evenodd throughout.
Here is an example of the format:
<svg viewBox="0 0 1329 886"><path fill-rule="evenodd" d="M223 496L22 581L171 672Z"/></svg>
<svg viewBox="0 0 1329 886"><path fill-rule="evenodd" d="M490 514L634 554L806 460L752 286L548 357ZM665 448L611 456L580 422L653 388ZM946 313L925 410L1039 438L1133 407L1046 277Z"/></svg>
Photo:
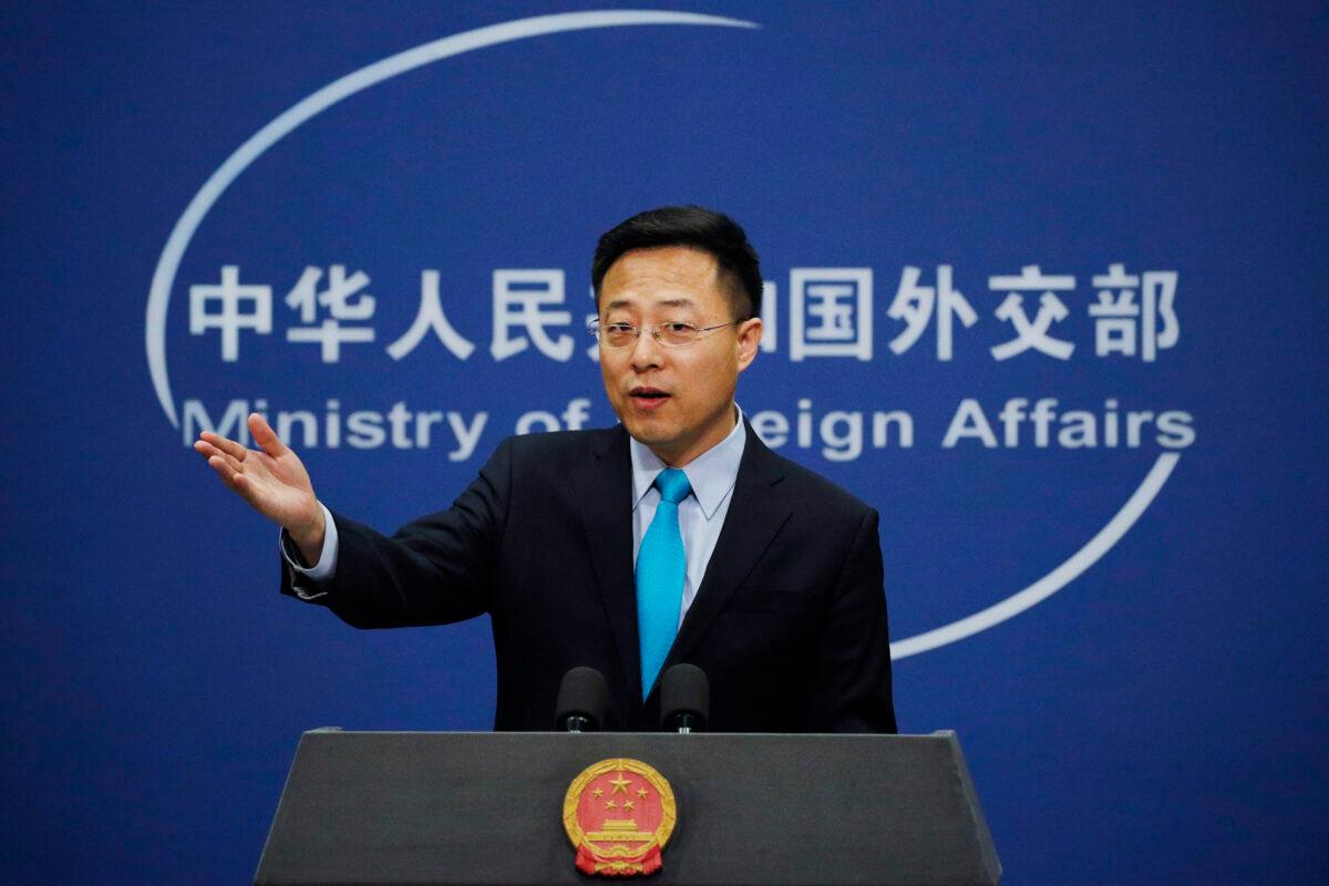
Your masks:
<svg viewBox="0 0 1329 886"><path fill-rule="evenodd" d="M567 788L563 829L586 874L633 877L661 869L678 808L664 776L639 760L586 766Z"/></svg>

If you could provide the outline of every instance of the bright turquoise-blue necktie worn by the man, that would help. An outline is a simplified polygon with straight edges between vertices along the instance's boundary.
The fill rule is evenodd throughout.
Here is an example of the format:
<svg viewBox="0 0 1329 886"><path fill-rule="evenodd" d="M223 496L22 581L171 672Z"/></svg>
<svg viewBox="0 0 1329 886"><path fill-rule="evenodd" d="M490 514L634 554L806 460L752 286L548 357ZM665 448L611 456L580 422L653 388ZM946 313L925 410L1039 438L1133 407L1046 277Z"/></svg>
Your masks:
<svg viewBox="0 0 1329 886"><path fill-rule="evenodd" d="M642 646L642 699L651 692L678 634L687 558L678 531L678 503L692 491L687 474L666 468L655 478L661 503L637 553L637 635Z"/></svg>

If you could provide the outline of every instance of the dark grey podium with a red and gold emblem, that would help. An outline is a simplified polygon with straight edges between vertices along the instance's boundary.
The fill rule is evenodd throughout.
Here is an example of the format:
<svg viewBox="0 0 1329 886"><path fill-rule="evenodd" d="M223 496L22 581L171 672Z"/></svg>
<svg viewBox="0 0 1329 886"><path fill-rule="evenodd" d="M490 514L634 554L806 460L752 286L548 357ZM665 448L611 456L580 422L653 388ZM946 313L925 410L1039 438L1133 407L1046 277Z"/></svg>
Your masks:
<svg viewBox="0 0 1329 886"><path fill-rule="evenodd" d="M611 882L574 867L563 798L601 760L672 786L663 869L621 883L997 883L954 732L930 736L315 729L255 883Z"/></svg>

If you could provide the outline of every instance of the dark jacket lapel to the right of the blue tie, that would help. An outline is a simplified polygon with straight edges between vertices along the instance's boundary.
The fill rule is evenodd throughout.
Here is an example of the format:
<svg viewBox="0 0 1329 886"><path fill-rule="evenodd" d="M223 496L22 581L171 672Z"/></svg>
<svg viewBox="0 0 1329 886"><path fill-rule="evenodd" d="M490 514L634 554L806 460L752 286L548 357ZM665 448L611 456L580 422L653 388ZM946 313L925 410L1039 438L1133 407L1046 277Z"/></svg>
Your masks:
<svg viewBox="0 0 1329 886"><path fill-rule="evenodd" d="M793 513L772 489L783 478L780 461L747 425L747 445L720 538L661 673L691 652Z"/></svg>

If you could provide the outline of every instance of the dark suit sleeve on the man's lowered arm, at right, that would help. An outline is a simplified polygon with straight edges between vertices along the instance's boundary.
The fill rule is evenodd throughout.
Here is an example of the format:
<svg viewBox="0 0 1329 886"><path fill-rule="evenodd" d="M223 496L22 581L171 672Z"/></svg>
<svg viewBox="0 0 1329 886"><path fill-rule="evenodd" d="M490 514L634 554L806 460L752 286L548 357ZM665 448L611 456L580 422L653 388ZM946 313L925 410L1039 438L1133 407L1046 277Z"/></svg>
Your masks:
<svg viewBox="0 0 1329 886"><path fill-rule="evenodd" d="M876 510L859 523L813 642L803 731L896 732Z"/></svg>

